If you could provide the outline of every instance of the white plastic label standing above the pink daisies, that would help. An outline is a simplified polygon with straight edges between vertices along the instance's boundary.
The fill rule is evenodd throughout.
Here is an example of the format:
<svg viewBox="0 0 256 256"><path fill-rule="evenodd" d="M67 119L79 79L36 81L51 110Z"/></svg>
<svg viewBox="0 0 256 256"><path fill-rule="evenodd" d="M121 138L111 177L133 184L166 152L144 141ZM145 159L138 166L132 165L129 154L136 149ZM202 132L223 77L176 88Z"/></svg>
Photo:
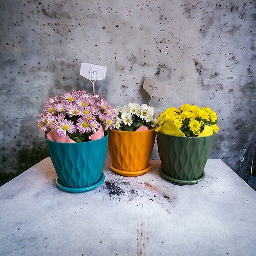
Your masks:
<svg viewBox="0 0 256 256"><path fill-rule="evenodd" d="M103 80L106 76L106 67L82 62L80 75L91 81Z"/></svg>

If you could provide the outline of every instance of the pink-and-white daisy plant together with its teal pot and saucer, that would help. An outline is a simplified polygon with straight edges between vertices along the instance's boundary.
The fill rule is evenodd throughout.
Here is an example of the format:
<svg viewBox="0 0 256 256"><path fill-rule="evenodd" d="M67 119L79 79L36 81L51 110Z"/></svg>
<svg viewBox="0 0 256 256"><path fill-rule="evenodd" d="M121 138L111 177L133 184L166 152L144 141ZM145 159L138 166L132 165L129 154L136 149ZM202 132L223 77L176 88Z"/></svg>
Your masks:
<svg viewBox="0 0 256 256"><path fill-rule="evenodd" d="M108 102L86 91L73 91L48 99L37 117L46 135L57 186L78 193L103 183L108 131L115 117Z"/></svg>

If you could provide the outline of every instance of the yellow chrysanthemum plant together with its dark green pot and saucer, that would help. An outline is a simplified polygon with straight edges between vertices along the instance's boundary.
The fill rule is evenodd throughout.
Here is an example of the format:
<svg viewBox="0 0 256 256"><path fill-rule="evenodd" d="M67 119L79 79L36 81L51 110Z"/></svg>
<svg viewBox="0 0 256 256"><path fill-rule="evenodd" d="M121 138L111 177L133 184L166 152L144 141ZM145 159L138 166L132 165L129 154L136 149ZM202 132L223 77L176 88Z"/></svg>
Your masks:
<svg viewBox="0 0 256 256"><path fill-rule="evenodd" d="M205 178L204 167L219 130L217 121L210 108L189 103L159 115L156 132L162 178L180 185Z"/></svg>

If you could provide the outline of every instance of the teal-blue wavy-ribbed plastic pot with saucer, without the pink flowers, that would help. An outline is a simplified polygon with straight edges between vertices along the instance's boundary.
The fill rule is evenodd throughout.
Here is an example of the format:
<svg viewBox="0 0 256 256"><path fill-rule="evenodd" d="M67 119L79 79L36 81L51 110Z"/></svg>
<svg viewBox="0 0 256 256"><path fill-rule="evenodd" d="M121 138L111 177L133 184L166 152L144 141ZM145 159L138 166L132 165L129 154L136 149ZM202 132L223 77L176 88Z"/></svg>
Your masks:
<svg viewBox="0 0 256 256"><path fill-rule="evenodd" d="M46 138L57 187L79 193L102 184L108 138L109 132L101 139L80 143L60 143Z"/></svg>

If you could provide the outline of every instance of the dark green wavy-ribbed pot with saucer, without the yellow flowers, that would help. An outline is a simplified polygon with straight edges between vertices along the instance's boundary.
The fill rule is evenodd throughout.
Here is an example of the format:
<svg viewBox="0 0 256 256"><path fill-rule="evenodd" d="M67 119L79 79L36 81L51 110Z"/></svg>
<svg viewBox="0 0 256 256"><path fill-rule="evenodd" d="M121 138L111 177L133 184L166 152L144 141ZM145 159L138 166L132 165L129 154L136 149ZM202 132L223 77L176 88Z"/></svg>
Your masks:
<svg viewBox="0 0 256 256"><path fill-rule="evenodd" d="M203 180L214 137L178 137L157 132L161 177L179 185Z"/></svg>

